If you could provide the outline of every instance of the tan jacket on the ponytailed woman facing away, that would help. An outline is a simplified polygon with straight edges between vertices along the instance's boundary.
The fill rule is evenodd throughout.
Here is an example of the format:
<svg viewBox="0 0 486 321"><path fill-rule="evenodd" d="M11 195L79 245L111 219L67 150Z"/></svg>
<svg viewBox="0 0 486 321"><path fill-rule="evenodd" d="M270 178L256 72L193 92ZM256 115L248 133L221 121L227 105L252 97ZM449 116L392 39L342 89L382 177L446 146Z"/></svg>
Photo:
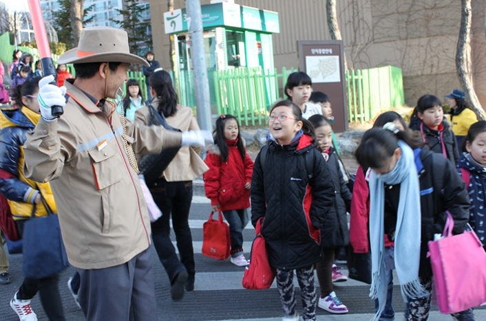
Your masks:
<svg viewBox="0 0 486 321"><path fill-rule="evenodd" d="M158 99L155 98L151 105L157 109ZM135 112L135 123L147 125L150 119L150 111L148 107L142 107ZM177 105L177 111L174 115L167 117L167 124L173 128L181 131L199 131L199 125L189 107ZM208 166L204 164L199 157L201 148L192 148L183 146L180 148L176 157L167 166L162 173L167 181L192 181L202 173L209 170Z"/></svg>

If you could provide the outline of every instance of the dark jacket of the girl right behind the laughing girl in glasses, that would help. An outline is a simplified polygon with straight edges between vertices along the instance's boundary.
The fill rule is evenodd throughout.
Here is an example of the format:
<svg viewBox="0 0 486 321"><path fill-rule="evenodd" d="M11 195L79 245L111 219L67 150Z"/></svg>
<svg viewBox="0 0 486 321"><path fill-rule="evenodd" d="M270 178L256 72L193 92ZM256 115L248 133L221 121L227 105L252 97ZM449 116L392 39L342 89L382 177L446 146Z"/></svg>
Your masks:
<svg viewBox="0 0 486 321"><path fill-rule="evenodd" d="M348 220L346 212L351 210L351 192L344 183L339 168L336 151L331 147L328 159L328 168L335 188L336 201L330 208L326 221L321 228L321 246L336 248L349 244Z"/></svg>

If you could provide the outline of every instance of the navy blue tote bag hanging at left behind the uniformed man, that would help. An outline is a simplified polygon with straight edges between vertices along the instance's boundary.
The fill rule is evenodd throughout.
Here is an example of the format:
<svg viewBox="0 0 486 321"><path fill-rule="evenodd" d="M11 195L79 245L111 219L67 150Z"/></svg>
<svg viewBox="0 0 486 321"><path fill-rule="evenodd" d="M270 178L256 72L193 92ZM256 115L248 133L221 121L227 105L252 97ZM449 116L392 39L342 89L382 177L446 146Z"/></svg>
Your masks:
<svg viewBox="0 0 486 321"><path fill-rule="evenodd" d="M52 212L42 196L41 200L47 215L34 217L34 205L23 228L22 272L24 276L35 279L53 276L69 267L57 214Z"/></svg>

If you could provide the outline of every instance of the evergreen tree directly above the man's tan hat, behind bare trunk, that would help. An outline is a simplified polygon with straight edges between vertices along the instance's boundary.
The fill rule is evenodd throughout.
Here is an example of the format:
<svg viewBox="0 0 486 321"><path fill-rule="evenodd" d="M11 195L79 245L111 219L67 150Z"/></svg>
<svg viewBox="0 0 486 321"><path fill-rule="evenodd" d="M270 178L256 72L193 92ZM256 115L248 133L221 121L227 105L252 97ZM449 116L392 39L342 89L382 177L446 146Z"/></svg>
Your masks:
<svg viewBox="0 0 486 321"><path fill-rule="evenodd" d="M72 31L70 16L71 0L58 0L58 2L60 5L59 10L52 11L52 16L54 16L54 27L56 27L59 42L65 43L67 49L71 49L78 45L74 41L74 34ZM89 16L89 18L87 18L89 12L93 10L93 7L94 5L90 5L88 8L85 8L83 25L90 23L94 19L94 16Z"/></svg>

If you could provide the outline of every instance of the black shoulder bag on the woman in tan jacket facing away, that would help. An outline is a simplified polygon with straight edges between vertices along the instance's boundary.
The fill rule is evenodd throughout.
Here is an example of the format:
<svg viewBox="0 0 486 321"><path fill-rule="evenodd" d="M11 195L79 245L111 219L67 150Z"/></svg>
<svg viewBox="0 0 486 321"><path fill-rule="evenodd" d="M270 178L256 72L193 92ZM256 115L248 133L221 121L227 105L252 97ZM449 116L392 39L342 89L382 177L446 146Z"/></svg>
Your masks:
<svg viewBox="0 0 486 321"><path fill-rule="evenodd" d="M175 129L172 126L167 124L167 120L165 120L165 116L149 104L147 106L150 111L150 119L148 126L163 126L167 131L179 131L179 129ZM178 147L169 147L169 148L162 148L160 154L149 154L143 155L140 157L138 161L138 170L140 170L140 174L145 177L145 183L150 188L154 186L157 179L162 175L162 172L169 166L169 163L172 162L172 159L176 157L177 153L179 152L180 146Z"/></svg>

